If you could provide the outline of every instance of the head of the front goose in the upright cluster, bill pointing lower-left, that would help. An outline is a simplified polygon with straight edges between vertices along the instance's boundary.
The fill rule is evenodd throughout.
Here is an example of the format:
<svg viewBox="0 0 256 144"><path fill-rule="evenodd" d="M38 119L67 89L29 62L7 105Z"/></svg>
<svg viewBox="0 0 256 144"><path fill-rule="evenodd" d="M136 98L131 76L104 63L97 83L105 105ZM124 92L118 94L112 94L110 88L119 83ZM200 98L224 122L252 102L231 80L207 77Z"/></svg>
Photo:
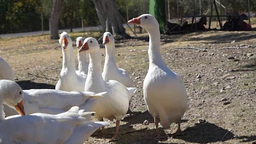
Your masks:
<svg viewBox="0 0 256 144"><path fill-rule="evenodd" d="M100 45L98 41L95 38L90 37L84 40L84 44L78 51L82 52L82 51L88 50L88 52L95 52L99 49L100 49Z"/></svg>

